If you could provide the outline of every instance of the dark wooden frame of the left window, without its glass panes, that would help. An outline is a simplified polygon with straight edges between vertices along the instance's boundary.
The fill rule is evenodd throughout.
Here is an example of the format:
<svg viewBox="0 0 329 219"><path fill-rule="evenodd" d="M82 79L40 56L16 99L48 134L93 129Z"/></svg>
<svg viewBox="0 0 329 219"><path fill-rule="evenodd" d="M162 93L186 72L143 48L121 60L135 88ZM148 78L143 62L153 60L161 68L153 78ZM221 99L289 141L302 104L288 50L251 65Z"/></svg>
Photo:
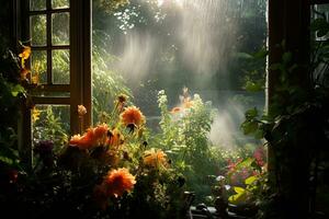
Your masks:
<svg viewBox="0 0 329 219"><path fill-rule="evenodd" d="M46 1L46 10L30 11L30 0L13 0L14 41L30 41L30 15L46 14L46 46L32 46L32 50L47 51L47 84L37 92L67 92L68 97L48 97L32 95L32 105L52 104L70 106L70 132L81 134L92 123L91 89L91 0L70 0L69 8L52 9L52 0ZM69 12L69 45L52 45L52 14ZM19 45L18 45L19 47ZM52 51L69 49L70 83L53 84ZM84 105L87 114L79 118L78 105ZM22 117L19 123L19 149L22 161L32 166L32 119L31 105L22 104Z"/></svg>

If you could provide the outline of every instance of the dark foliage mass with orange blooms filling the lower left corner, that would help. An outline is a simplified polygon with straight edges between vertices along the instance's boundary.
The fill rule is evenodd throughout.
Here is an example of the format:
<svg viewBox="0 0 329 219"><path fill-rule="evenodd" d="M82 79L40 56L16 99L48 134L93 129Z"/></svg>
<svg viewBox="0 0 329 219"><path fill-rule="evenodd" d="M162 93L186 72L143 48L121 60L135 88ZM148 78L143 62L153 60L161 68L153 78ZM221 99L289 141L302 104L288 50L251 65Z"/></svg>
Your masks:
<svg viewBox="0 0 329 219"><path fill-rule="evenodd" d="M141 112L121 96L116 103L111 124L72 136L61 151L49 140L35 145L34 169L4 181L1 205L32 218L181 218L182 175L148 147Z"/></svg>

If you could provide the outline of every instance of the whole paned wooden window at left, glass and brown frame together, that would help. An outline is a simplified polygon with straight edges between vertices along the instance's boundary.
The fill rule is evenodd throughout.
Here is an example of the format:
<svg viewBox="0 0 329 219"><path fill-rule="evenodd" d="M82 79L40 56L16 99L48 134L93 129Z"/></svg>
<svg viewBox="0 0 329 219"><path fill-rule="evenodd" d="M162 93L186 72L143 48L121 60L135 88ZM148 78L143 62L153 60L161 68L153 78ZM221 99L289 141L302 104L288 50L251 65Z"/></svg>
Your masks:
<svg viewBox="0 0 329 219"><path fill-rule="evenodd" d="M27 62L30 104L21 128L21 147L31 161L31 143L43 140L46 135L41 135L41 129L45 125L52 130L49 119L67 136L91 124L90 1L19 2L22 32L18 41L32 49ZM83 118L78 115L78 105L87 108Z"/></svg>

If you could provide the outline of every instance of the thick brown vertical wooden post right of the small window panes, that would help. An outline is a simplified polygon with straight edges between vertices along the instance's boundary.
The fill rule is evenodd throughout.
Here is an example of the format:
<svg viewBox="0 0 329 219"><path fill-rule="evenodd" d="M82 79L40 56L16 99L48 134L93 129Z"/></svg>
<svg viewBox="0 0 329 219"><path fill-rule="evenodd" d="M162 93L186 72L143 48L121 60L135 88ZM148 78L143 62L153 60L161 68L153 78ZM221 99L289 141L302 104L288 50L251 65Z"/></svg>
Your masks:
<svg viewBox="0 0 329 219"><path fill-rule="evenodd" d="M71 132L82 132L91 125L91 1L70 1L70 99ZM87 114L81 119L78 105L83 104Z"/></svg>

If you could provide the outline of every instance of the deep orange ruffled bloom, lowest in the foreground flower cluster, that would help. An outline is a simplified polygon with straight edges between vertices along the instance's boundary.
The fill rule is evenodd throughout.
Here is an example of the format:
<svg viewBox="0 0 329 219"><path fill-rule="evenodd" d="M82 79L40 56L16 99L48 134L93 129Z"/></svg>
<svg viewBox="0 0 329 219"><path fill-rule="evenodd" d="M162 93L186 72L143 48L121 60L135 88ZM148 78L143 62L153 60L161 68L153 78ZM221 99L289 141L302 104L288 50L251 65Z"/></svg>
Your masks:
<svg viewBox="0 0 329 219"><path fill-rule="evenodd" d="M102 183L106 195L115 197L122 196L124 192L131 192L135 184L135 176L125 168L110 171Z"/></svg>

